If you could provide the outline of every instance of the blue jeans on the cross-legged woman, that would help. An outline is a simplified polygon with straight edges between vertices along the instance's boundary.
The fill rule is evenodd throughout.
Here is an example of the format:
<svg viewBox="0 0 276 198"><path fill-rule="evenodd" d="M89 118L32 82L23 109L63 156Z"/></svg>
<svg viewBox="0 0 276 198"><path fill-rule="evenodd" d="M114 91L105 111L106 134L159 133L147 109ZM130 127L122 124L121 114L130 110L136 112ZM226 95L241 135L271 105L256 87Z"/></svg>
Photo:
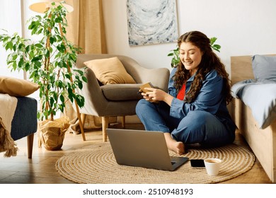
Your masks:
<svg viewBox="0 0 276 198"><path fill-rule="evenodd" d="M137 103L136 113L147 131L171 133L173 139L184 144L221 146L234 141L234 133L209 112L194 110L179 119L170 116L166 103L142 99Z"/></svg>

